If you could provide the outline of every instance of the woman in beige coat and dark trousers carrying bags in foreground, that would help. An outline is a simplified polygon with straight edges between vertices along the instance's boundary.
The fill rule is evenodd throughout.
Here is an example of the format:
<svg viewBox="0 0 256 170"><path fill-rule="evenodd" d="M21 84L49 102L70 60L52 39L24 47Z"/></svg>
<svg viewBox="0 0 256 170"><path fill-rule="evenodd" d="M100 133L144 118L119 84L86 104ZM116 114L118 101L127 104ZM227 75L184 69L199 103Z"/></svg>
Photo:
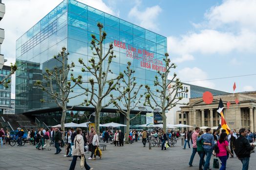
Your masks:
<svg viewBox="0 0 256 170"><path fill-rule="evenodd" d="M85 159L85 152L84 152L84 138L82 136L82 129L77 128L76 129L77 135L75 136L74 139L74 145L72 146L72 155L73 155L73 160L71 162L69 170L75 170L76 167L76 160L77 157L79 157L83 162L81 162L80 165L83 165L85 167L85 170L93 170L93 168L90 168Z"/></svg>

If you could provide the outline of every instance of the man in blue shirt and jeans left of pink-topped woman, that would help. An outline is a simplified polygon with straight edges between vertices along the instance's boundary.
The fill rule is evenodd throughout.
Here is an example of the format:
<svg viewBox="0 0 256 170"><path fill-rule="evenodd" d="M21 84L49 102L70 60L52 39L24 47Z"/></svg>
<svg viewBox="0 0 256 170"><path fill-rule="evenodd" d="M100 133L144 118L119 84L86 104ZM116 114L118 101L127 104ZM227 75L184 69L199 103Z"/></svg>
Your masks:
<svg viewBox="0 0 256 170"><path fill-rule="evenodd" d="M197 139L197 141L201 141L204 140L204 143L207 143L205 145L203 145L205 154L206 154L206 160L205 160L205 164L204 164L204 170L211 170L210 169L210 160L212 157L212 153L213 153L213 147L214 147L214 138L212 135L212 131L211 128L207 128L206 129L206 134L203 134L201 137L199 137Z"/></svg>

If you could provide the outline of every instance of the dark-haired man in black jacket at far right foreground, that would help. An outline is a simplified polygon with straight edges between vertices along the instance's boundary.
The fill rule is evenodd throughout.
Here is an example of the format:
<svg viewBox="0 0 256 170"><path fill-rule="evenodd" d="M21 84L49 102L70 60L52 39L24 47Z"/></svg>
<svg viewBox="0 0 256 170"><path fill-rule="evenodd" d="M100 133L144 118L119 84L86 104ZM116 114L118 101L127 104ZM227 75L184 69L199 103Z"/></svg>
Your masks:
<svg viewBox="0 0 256 170"><path fill-rule="evenodd" d="M242 170L248 170L250 154L254 146L246 139L247 131L245 128L239 130L239 137L235 140L235 154L243 164Z"/></svg>

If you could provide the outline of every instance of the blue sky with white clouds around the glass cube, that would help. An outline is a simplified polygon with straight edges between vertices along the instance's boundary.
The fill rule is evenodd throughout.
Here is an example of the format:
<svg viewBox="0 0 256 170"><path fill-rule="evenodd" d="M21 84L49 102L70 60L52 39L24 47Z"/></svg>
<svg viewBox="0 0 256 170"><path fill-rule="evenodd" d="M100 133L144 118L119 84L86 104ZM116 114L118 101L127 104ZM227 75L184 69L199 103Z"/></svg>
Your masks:
<svg viewBox="0 0 256 170"><path fill-rule="evenodd" d="M2 0L5 64L15 62L16 39L61 1ZM183 82L232 93L234 82L235 92L256 90L256 0L78 1L166 36L177 65L170 77L175 72ZM230 78L216 79L223 77Z"/></svg>

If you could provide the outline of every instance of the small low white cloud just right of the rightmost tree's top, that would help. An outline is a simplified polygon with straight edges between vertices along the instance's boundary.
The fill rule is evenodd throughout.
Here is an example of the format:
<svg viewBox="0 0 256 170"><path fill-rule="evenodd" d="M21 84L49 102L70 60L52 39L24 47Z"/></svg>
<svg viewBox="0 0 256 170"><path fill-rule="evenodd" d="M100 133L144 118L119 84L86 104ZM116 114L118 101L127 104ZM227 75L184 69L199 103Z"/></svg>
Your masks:
<svg viewBox="0 0 256 170"><path fill-rule="evenodd" d="M183 68L178 71L177 76L180 78L181 82L187 82L192 85L199 85L208 88L214 88L215 86L211 81L199 81L207 79L208 75L205 71L197 67Z"/></svg>

